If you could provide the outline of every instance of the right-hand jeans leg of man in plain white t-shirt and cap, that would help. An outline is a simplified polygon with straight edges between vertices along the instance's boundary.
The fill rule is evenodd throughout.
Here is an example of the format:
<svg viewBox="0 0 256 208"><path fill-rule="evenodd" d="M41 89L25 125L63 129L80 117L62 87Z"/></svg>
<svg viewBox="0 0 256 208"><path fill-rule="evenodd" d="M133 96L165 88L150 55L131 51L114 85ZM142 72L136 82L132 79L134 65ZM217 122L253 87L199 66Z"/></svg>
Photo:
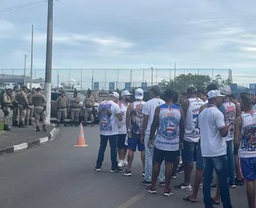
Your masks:
<svg viewBox="0 0 256 208"><path fill-rule="evenodd" d="M222 204L224 208L232 208L230 201L230 187L228 183L227 157L226 155L212 158L214 170L218 176L218 184Z"/></svg>

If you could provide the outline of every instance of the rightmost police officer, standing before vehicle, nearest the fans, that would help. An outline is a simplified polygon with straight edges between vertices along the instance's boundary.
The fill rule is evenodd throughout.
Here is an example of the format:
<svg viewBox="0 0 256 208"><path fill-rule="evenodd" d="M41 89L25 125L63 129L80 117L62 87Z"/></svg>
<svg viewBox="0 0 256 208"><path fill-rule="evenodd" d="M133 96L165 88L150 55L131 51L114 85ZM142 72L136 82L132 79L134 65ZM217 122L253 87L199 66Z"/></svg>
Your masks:
<svg viewBox="0 0 256 208"><path fill-rule="evenodd" d="M90 114L90 121L91 121L91 126L94 126L94 114L93 114L93 108L94 108L94 96L91 94L91 90L87 90L87 96L83 102L84 109L85 109L85 125L87 125L87 120Z"/></svg>

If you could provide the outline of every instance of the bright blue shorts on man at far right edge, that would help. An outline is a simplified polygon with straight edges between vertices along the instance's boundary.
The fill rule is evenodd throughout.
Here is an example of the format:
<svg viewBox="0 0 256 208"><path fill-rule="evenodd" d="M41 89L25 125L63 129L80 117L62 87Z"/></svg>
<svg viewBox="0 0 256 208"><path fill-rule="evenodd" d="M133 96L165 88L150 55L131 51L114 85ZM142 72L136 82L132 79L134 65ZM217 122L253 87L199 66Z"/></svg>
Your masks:
<svg viewBox="0 0 256 208"><path fill-rule="evenodd" d="M246 181L256 180L256 158L240 158L240 166Z"/></svg>

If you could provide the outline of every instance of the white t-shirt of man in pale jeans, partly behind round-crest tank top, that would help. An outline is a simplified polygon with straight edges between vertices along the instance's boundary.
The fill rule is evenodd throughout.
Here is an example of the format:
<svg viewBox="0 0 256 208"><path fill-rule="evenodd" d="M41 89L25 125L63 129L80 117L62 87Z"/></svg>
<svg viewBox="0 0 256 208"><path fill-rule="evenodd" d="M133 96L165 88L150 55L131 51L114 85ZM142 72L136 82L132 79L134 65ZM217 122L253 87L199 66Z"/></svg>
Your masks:
<svg viewBox="0 0 256 208"><path fill-rule="evenodd" d="M147 123L145 134L150 134L150 127L154 119L154 110L157 106L164 104L162 99L160 98L152 98L148 102L146 102L142 108L142 114L146 114L149 116L149 121Z"/></svg>

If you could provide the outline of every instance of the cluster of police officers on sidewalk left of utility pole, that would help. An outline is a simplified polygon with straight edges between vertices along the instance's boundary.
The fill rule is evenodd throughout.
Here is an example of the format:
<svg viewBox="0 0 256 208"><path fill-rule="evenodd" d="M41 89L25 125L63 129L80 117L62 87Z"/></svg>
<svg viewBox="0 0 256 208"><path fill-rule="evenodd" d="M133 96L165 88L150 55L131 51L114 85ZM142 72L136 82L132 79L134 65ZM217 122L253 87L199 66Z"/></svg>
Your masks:
<svg viewBox="0 0 256 208"><path fill-rule="evenodd" d="M14 90L6 89L2 94L2 111L4 113L3 130L11 130L9 126L10 111L13 111L12 126L33 126L32 118L35 118L36 131L40 131L39 121L42 119L42 130L46 131L46 98L41 94L41 88L34 87L27 93L27 87L14 86Z"/></svg>

